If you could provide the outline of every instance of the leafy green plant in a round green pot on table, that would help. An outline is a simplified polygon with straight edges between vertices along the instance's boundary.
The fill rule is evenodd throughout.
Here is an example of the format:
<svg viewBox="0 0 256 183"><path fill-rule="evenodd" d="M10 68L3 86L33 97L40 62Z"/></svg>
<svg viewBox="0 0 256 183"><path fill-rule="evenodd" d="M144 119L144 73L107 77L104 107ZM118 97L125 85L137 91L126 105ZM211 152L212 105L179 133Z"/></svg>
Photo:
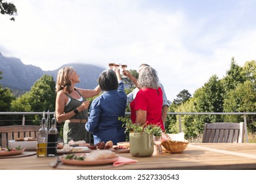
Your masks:
<svg viewBox="0 0 256 183"><path fill-rule="evenodd" d="M154 136L161 136L158 125L133 124L131 119L119 117L124 122L125 133L129 133L130 153L135 157L149 157L154 152Z"/></svg>

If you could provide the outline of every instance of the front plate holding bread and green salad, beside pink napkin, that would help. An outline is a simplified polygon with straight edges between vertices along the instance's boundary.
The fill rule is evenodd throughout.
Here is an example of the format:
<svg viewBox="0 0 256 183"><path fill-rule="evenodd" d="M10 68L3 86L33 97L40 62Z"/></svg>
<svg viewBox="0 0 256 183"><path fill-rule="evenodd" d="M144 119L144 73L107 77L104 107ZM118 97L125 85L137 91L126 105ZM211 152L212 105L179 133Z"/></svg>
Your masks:
<svg viewBox="0 0 256 183"><path fill-rule="evenodd" d="M118 156L111 150L95 150L87 154L67 154L60 161L69 165L106 165L117 161Z"/></svg>

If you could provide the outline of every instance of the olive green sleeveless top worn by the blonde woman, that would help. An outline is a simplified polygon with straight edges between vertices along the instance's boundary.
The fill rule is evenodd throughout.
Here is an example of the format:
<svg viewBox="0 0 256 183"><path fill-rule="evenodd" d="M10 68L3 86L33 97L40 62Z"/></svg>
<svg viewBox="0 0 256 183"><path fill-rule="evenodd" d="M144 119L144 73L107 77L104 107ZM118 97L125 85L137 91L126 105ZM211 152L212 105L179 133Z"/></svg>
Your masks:
<svg viewBox="0 0 256 183"><path fill-rule="evenodd" d="M76 89L75 91L81 96L81 93L78 92ZM65 93L68 97L70 97L70 103L68 103L68 105L66 105L64 107L64 112L70 112L72 110L74 110L75 108L79 107L84 101L86 101L86 99L83 97L83 101L78 101L77 99L74 99L69 93ZM81 112L79 112L78 114L75 114L75 116L73 116L70 119L78 119L78 120L87 120L88 119L88 109L86 110L82 110Z"/></svg>

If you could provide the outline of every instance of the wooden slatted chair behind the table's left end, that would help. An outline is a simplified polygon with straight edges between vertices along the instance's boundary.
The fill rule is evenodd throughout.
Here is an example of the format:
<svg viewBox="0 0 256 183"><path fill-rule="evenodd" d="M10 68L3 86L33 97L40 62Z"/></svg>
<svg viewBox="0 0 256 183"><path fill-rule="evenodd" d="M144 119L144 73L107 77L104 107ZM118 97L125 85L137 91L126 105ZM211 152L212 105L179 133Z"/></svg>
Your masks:
<svg viewBox="0 0 256 183"><path fill-rule="evenodd" d="M39 125L8 125L0 127L1 147L6 148L8 142L22 137L35 137L39 131Z"/></svg>

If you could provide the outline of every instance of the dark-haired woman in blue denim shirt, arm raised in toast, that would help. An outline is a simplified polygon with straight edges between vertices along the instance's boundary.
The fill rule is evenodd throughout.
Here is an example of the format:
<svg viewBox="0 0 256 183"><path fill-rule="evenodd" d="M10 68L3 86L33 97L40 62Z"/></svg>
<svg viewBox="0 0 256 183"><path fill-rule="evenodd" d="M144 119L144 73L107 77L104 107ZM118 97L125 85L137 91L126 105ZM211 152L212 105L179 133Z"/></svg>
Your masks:
<svg viewBox="0 0 256 183"><path fill-rule="evenodd" d="M112 141L113 144L123 142L125 127L118 117L125 116L127 96L120 70L103 71L98 78L98 84L104 92L91 103L90 116L85 129L93 132L95 144L100 141Z"/></svg>

